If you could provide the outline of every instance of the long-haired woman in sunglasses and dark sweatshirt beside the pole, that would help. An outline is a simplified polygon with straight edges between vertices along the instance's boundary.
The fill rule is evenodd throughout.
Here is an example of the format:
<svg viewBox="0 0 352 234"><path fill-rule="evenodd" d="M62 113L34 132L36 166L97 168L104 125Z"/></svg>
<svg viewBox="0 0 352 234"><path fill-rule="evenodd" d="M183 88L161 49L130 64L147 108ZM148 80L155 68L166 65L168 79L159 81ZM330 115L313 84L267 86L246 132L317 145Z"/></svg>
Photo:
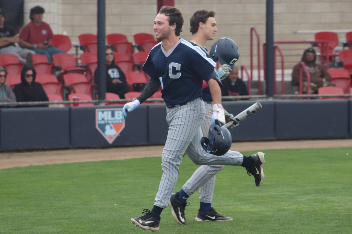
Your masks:
<svg viewBox="0 0 352 234"><path fill-rule="evenodd" d="M125 73L115 64L114 52L111 46L106 47L106 92L118 94L121 99L125 99L125 93L130 89L126 82ZM98 68L94 72L95 82L98 82Z"/></svg>

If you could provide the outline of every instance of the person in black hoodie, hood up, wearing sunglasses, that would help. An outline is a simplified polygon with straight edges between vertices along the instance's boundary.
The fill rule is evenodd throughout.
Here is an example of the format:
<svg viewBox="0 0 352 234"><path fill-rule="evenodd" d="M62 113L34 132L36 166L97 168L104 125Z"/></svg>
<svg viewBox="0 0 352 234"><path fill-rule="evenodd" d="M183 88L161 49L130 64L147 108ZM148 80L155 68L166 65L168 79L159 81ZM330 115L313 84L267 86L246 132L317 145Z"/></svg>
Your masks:
<svg viewBox="0 0 352 234"><path fill-rule="evenodd" d="M21 83L15 85L13 92L18 102L49 101L43 86L36 82L36 71L24 66L21 71ZM28 105L18 107L47 107L48 105Z"/></svg>

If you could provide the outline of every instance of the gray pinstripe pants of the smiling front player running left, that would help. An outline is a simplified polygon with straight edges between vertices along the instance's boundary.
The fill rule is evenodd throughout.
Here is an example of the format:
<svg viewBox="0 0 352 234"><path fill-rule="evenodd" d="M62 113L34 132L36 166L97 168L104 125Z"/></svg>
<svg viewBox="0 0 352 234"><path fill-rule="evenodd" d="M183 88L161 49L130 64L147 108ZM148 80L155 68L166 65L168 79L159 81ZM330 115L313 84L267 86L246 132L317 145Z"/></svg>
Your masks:
<svg viewBox="0 0 352 234"><path fill-rule="evenodd" d="M204 102L200 98L190 101L184 106L166 108L169 131L162 153L163 175L155 197L155 206L162 208L168 206L180 172L178 167L185 151L197 165L240 166L242 164L243 155L239 152L229 151L225 155L216 156L204 151L200 144L200 139L203 136L200 127L205 118L205 112Z"/></svg>

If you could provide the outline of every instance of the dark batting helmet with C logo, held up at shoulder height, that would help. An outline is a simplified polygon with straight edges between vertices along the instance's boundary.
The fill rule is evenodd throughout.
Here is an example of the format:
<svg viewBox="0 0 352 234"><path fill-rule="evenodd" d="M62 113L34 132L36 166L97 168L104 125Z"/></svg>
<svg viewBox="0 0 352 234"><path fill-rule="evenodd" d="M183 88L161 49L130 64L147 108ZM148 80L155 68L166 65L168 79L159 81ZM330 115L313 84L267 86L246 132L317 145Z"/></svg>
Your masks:
<svg viewBox="0 0 352 234"><path fill-rule="evenodd" d="M230 65L233 71L235 68L234 64L240 57L240 51L234 40L230 38L220 38L212 45L210 55L215 62L219 60L220 65Z"/></svg>

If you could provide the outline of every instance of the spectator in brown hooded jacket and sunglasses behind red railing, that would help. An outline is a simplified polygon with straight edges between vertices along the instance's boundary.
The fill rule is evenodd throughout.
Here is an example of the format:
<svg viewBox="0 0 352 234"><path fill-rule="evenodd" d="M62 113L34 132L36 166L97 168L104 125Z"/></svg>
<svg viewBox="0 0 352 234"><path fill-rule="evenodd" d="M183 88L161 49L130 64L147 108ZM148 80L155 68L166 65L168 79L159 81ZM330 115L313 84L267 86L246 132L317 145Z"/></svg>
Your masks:
<svg viewBox="0 0 352 234"><path fill-rule="evenodd" d="M327 72L325 66L315 63L316 53L313 48L308 48L303 52L301 61L307 67L310 75L310 93L317 94L318 88L325 86L335 86L331 82L331 76ZM307 75L304 69L302 70L302 92L307 93ZM292 70L292 83L298 86L300 81L300 63L297 63Z"/></svg>

